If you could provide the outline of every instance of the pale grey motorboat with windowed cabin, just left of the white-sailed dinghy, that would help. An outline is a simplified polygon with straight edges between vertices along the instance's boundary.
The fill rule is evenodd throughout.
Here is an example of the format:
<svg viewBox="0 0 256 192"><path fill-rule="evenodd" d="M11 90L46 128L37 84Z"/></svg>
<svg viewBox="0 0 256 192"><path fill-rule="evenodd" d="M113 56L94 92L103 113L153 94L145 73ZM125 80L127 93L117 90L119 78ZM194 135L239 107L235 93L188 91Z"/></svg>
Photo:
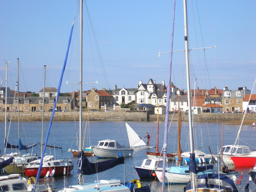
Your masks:
<svg viewBox="0 0 256 192"><path fill-rule="evenodd" d="M92 150L98 158L131 157L133 154L132 148L124 147L115 140L101 140Z"/></svg>

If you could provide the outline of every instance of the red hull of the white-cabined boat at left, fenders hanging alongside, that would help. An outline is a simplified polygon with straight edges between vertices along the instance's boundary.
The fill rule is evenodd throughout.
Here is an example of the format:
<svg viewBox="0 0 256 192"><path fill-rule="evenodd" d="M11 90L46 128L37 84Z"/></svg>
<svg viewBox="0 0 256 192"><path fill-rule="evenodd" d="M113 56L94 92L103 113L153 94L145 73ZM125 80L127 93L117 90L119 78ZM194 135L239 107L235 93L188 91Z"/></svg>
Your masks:
<svg viewBox="0 0 256 192"><path fill-rule="evenodd" d="M66 174L70 173L74 168L74 166L43 167L42 171L41 171L41 174L40 174L40 177L45 177L48 170L50 170L50 173L51 173L52 170L54 170L54 169L55 169L54 176L64 175L65 174L64 167L66 168ZM27 177L36 177L37 172L38 172L38 167L36 167L36 168L25 168L24 172L25 172Z"/></svg>

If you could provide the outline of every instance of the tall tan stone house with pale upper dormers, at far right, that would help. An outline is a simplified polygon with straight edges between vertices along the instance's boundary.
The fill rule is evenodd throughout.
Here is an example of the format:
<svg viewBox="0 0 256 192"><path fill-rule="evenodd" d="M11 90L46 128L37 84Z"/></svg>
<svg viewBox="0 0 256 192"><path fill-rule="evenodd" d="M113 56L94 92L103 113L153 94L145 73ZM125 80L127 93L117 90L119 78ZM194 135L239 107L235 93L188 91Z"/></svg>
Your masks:
<svg viewBox="0 0 256 192"><path fill-rule="evenodd" d="M246 87L239 87L238 90L228 90L228 87L224 87L222 91L223 111L242 111L243 99L246 94L250 93L251 91Z"/></svg>

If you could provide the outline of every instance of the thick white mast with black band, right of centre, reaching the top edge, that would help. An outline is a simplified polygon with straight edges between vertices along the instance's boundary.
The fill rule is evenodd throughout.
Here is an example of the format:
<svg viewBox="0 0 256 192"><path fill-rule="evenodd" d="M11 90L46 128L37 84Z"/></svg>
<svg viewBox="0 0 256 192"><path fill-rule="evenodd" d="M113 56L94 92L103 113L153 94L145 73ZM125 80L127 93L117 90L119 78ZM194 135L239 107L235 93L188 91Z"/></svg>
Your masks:
<svg viewBox="0 0 256 192"><path fill-rule="evenodd" d="M192 123L192 110L191 110L191 89L190 89L190 74L189 74L189 58L188 58L188 21L187 21L187 3L183 0L184 9L184 42L185 42L185 57L186 57L186 76L187 76L187 89L188 89L188 121L189 121L189 138L190 138L190 153L194 153L194 134ZM195 192L195 174L191 172L192 189Z"/></svg>

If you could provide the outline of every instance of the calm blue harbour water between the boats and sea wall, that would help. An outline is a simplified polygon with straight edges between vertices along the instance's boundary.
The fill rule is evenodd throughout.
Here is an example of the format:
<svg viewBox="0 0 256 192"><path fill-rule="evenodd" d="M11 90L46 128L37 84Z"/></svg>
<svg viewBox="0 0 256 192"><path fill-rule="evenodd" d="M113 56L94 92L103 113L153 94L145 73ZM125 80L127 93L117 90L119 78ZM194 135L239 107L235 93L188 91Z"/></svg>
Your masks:
<svg viewBox="0 0 256 192"><path fill-rule="evenodd" d="M72 118L72 117L71 117ZM49 122L45 122L44 126L44 135L46 135L48 129ZM83 127L86 122L83 123ZM154 122L128 122L128 124L137 132L140 137L144 137L146 132L149 134L152 132L151 136L151 145L156 144L156 123ZM234 144L236 139L236 135L238 132L240 125L232 125L232 124L224 124L224 142L223 144ZM18 130L17 130L17 122L12 122L10 126L10 133L8 142L12 144L18 145ZM160 131L159 131L159 147L162 148L162 138L163 138L163 130L164 130L164 122L159 123ZM195 142L196 148L198 150L204 151L209 154L208 147L210 146L213 154L218 154L221 146L221 132L222 132L222 124L217 123L195 123ZM7 126L9 128L9 124ZM41 140L41 122L20 122L20 135L22 144L32 144L39 142ZM70 159L73 160L74 163L74 171L68 177L59 176L50 178L58 189L64 187L66 185L77 184L77 158L72 156L72 153L68 152L69 148L77 149L77 136L78 136L78 122L53 122L52 129L50 132L50 137L48 140L49 145L61 146L63 150L46 150L47 154L53 154L57 158L62 159ZM177 148L177 123L174 122L171 125L170 133L168 136L168 152L174 152ZM256 130L252 129L252 126L243 126L242 132L240 134L240 144L256 146L255 140ZM4 152L3 144L4 144L4 122L0 122L0 149L2 150L2 154ZM85 146L96 145L99 140L104 139L113 139L119 142L120 144L124 144L128 146L128 136L126 132L126 127L124 122L121 121L90 121L89 127L86 133L86 141ZM145 140L146 141L146 140ZM246 143L244 143L244 142ZM182 124L182 135L181 135L181 145L183 151L188 151L188 123L184 122ZM250 147L254 149L253 147ZM155 148L150 149L154 151ZM10 150L7 150L6 153L9 153ZM31 153L31 151L30 151ZM40 154L40 147L36 146L34 148L33 153ZM126 158L125 164L125 180L130 181L132 179L139 179L138 175L136 175L136 171L134 166L140 166L142 161L146 157L146 149L138 149L134 148L134 154L132 158ZM98 161L95 157L89 157L90 162ZM170 166L170 165L169 165ZM217 164L215 165L217 168ZM239 172L243 172L243 181L240 185L242 190L245 184L248 181L248 170L249 168L233 168ZM109 178L118 178L121 181L124 181L124 166L118 165L110 170L99 173L98 175L84 176L85 182L94 182L97 179L109 179ZM65 181L65 182L64 182ZM160 191L161 183L158 181L150 181L150 180L141 180L142 182L150 182L152 186L152 191ZM169 186L171 191L183 191L184 185L176 185ZM250 183L250 190L256 191L256 186L254 183ZM168 186L166 185L166 191Z"/></svg>

